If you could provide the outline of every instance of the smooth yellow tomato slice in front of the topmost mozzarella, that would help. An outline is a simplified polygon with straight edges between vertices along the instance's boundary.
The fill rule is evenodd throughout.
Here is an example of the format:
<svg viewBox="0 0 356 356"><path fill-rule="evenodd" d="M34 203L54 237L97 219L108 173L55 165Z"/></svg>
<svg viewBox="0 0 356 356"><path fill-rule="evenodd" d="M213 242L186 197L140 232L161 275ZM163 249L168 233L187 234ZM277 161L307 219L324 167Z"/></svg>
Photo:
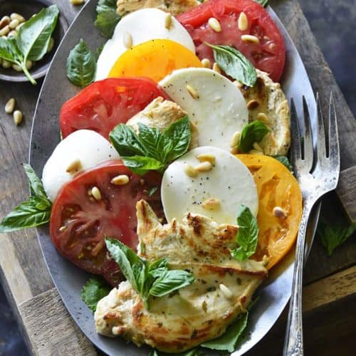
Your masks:
<svg viewBox="0 0 356 356"><path fill-rule="evenodd" d="M145 76L156 82L174 69L202 67L192 51L171 40L151 40L127 50L112 66L109 77Z"/></svg>

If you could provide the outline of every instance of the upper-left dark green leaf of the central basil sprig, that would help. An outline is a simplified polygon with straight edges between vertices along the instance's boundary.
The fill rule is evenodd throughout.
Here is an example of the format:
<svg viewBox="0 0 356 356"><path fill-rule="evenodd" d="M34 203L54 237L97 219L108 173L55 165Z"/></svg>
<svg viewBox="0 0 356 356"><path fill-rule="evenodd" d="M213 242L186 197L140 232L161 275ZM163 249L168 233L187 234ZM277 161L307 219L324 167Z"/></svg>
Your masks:
<svg viewBox="0 0 356 356"><path fill-rule="evenodd" d="M121 156L146 156L147 150L130 126L119 124L110 132L110 141Z"/></svg>

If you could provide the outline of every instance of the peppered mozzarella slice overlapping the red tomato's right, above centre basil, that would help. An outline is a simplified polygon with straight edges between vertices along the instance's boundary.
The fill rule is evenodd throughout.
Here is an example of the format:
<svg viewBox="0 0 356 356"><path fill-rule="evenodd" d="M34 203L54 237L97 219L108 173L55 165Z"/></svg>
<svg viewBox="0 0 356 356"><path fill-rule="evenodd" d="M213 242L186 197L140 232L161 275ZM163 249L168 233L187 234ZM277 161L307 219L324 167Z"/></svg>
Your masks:
<svg viewBox="0 0 356 356"><path fill-rule="evenodd" d="M229 79L211 69L185 68L159 85L197 125L200 146L231 150L231 139L248 123L248 112L240 90Z"/></svg>

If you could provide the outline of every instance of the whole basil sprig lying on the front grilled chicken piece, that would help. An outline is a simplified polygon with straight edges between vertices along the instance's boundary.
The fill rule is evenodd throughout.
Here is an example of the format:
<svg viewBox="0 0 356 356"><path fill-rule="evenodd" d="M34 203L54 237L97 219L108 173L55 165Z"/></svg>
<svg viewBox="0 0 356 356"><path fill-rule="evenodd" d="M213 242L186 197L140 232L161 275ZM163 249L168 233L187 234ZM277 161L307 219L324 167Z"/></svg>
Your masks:
<svg viewBox="0 0 356 356"><path fill-rule="evenodd" d="M150 308L150 295L163 297L194 282L192 273L169 270L166 259L148 262L115 239L107 238L105 244L112 258L119 265L122 274L142 298L147 310Z"/></svg>

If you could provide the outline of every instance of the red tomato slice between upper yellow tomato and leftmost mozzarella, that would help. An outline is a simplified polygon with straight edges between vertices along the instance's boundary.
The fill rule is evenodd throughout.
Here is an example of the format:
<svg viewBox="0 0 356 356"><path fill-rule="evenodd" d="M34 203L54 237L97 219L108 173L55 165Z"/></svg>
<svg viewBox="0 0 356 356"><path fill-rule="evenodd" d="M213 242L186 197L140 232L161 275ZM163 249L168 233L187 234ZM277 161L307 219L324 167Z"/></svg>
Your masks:
<svg viewBox="0 0 356 356"><path fill-rule="evenodd" d="M168 98L150 78L108 78L92 83L62 106L63 138L88 129L108 139L116 125L127 122L158 96Z"/></svg>

